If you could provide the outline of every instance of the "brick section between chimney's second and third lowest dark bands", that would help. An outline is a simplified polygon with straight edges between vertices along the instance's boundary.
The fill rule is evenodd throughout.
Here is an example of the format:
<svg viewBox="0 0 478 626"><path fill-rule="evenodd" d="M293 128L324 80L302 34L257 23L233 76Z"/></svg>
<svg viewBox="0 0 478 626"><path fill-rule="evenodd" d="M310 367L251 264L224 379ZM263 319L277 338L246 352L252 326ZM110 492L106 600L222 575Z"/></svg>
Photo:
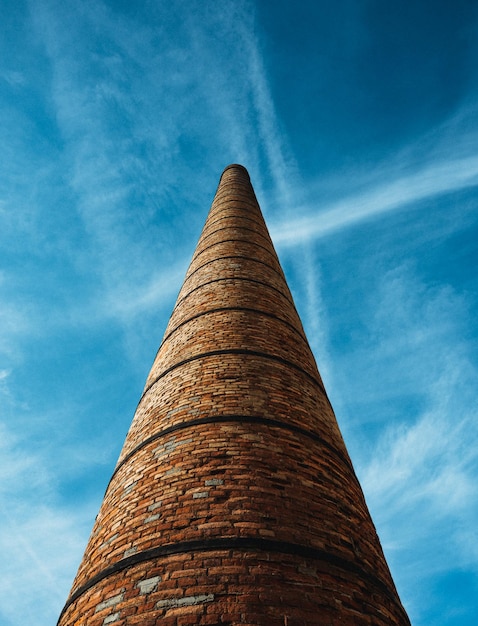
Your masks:
<svg viewBox="0 0 478 626"><path fill-rule="evenodd" d="M263 376L264 367L269 371ZM228 393L213 389L215 380ZM197 393L198 386L204 389ZM313 380L281 363L223 355L198 359L170 371L141 399L120 459L156 431L186 420L220 415L261 415L315 432L336 446L341 435L326 396ZM180 393L180 397L178 397ZM290 411L294 402L294 411ZM331 423L332 422L332 423Z"/></svg>

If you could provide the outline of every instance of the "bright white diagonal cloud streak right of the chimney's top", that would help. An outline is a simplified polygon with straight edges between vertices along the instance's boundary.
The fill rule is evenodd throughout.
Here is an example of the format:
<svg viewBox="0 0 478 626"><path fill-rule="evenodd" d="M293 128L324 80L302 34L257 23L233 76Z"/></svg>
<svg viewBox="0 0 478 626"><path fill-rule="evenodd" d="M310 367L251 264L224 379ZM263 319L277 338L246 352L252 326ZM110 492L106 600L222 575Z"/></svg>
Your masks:
<svg viewBox="0 0 478 626"><path fill-rule="evenodd" d="M419 141L406 144L372 168L340 172L337 180L317 178L309 186L314 203L298 204L295 218L271 224L274 241L281 248L300 245L478 186L477 136L470 131L475 115L475 108L464 103Z"/></svg>

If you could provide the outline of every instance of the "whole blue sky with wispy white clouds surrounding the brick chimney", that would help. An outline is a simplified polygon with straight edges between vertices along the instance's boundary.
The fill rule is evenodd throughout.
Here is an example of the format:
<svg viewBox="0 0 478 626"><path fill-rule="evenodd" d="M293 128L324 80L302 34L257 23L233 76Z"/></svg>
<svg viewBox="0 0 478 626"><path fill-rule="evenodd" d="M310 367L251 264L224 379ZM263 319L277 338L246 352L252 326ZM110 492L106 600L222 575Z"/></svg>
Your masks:
<svg viewBox="0 0 478 626"><path fill-rule="evenodd" d="M1 0L0 623L56 622L245 165L414 626L478 614L478 7Z"/></svg>

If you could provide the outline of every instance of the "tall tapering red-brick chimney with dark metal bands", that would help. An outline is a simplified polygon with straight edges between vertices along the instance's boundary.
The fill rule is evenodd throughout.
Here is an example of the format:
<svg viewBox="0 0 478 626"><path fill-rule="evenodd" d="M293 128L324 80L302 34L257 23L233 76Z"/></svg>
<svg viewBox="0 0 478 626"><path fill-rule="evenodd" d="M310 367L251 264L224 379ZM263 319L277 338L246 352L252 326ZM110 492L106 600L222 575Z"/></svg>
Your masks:
<svg viewBox="0 0 478 626"><path fill-rule="evenodd" d="M59 624L409 623L249 176L231 165Z"/></svg>

